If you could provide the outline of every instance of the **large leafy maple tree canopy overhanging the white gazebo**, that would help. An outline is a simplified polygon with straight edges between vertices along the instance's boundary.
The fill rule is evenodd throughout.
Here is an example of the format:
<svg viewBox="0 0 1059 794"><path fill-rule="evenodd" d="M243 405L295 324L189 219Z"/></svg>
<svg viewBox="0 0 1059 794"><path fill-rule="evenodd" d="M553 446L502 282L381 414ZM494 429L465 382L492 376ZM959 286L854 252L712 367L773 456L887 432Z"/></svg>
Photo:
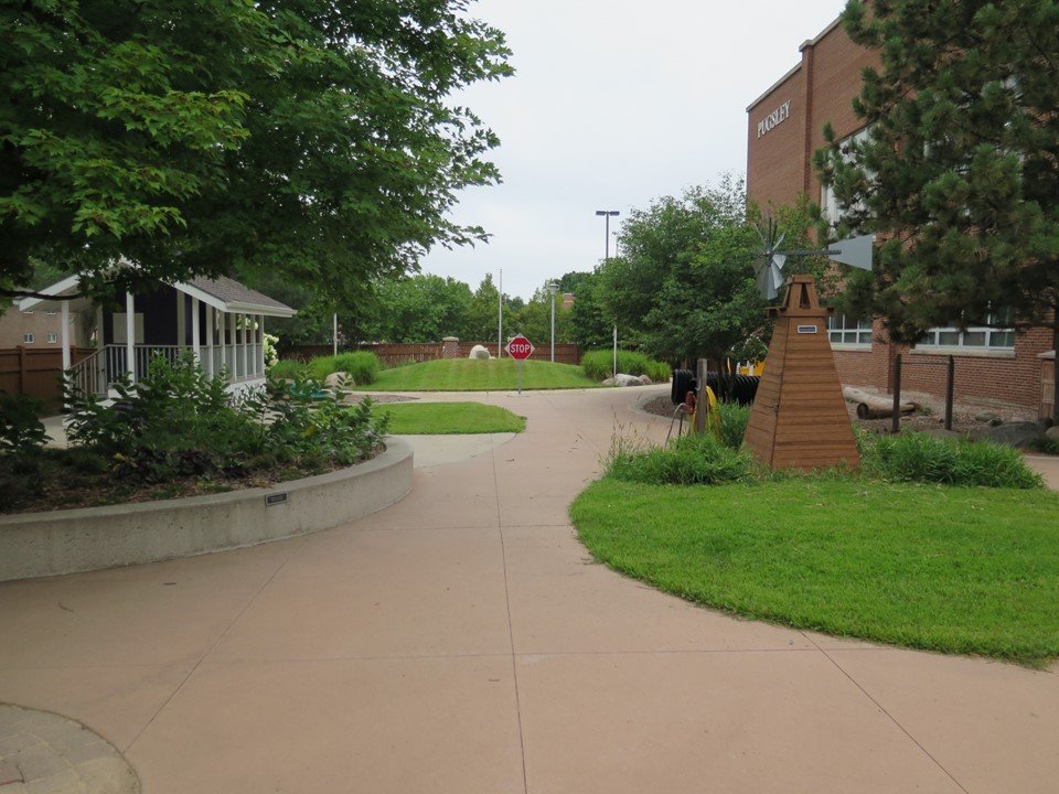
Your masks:
<svg viewBox="0 0 1059 794"><path fill-rule="evenodd" d="M279 272L333 305L483 237L498 180L448 99L511 73L467 0L0 6L0 294L32 257L105 285ZM124 257L137 267L116 269Z"/></svg>

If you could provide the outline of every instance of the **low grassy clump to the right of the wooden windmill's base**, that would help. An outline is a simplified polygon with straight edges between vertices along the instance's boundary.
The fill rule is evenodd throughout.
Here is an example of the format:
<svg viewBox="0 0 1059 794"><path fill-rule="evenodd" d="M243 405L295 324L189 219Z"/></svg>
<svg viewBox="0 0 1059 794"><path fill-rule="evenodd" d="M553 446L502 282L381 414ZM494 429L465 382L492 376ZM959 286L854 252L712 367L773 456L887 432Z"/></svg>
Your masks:
<svg viewBox="0 0 1059 794"><path fill-rule="evenodd" d="M1023 461L1018 450L988 441L950 441L927 433L860 437L862 465L887 480L984 485L987 487L1044 487L1039 474Z"/></svg>

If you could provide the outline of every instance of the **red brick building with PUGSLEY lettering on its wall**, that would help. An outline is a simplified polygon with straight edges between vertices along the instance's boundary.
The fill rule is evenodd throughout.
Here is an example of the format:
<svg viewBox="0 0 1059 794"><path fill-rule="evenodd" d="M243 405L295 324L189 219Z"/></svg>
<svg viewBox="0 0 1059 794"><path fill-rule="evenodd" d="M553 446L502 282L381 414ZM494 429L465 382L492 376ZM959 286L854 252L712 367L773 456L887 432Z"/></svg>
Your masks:
<svg viewBox="0 0 1059 794"><path fill-rule="evenodd" d="M802 193L837 219L830 191L813 171L813 152L824 144L830 121L839 140L864 132L852 100L860 90L865 66L878 65L874 51L854 44L838 20L804 42L801 63L747 108L747 192L761 206L789 204ZM1003 325L1002 318L997 322ZM901 386L944 394L948 356L955 357L956 397L988 397L1050 415L1050 395L1042 405L1042 372L1051 352L1051 329L1023 334L1002 328L961 331L932 329L911 346L891 344L881 322L836 315L831 343L844 384L889 389L892 361L902 354ZM1050 379L1048 373L1044 378Z"/></svg>

